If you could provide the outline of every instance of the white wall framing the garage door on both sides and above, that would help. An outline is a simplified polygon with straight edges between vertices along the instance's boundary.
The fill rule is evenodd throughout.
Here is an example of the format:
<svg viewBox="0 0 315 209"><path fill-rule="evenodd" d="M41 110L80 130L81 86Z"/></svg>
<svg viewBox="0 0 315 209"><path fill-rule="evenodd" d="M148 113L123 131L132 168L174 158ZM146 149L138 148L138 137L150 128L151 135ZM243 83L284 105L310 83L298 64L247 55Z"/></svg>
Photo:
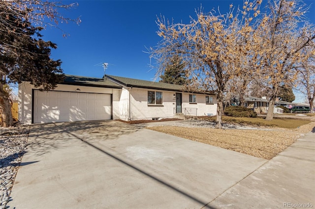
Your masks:
<svg viewBox="0 0 315 209"><path fill-rule="evenodd" d="M84 93L112 94L113 119L120 119L119 101L121 98L121 89L59 84L54 90L76 92L77 88L81 90L80 92ZM19 85L19 119L21 123L32 123L32 89L38 88L35 88L30 82L22 82Z"/></svg>

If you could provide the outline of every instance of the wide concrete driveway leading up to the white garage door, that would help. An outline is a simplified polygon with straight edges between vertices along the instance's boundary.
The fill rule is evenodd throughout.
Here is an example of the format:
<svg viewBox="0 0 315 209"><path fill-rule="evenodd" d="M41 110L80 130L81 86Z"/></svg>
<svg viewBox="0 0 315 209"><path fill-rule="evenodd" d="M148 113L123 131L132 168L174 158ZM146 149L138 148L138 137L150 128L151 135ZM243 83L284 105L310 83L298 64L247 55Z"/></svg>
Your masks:
<svg viewBox="0 0 315 209"><path fill-rule="evenodd" d="M33 125L28 142L10 208L215 208L267 161L118 121Z"/></svg>

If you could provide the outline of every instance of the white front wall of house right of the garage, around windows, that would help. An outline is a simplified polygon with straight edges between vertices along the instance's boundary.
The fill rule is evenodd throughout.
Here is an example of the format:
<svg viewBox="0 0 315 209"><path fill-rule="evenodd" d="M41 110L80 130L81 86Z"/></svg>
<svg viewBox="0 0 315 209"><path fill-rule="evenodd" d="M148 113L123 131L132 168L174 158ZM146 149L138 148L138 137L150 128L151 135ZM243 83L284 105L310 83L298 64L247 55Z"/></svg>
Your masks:
<svg viewBox="0 0 315 209"><path fill-rule="evenodd" d="M153 89L132 88L130 91L130 119L152 119L152 118L172 118L174 116L174 107L176 107L176 98L174 94L182 93L182 107L197 108L197 115L204 116L208 113L216 115L217 100L212 96L214 104L206 104L206 99L203 94L195 94L197 97L197 104L189 104L189 93L176 91L162 91L163 99L162 105L148 105L148 91L155 91ZM123 94L122 94L123 95ZM121 104L122 105L122 104Z"/></svg>

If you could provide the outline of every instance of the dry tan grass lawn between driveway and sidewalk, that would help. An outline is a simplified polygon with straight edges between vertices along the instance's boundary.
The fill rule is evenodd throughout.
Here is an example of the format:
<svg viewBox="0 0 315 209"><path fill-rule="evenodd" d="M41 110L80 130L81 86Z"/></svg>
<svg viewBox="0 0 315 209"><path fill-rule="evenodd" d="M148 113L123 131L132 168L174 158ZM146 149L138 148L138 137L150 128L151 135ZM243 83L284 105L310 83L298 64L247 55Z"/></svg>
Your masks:
<svg viewBox="0 0 315 209"><path fill-rule="evenodd" d="M315 122L307 121L306 123L306 121L302 120L300 123L298 121L299 120L295 121L299 123L299 128L297 129L267 127L266 130L218 130L213 128L175 126L156 126L147 127L147 129L233 150L254 157L271 159L296 141L301 134L312 131L315 127ZM296 124L292 126L297 127Z"/></svg>

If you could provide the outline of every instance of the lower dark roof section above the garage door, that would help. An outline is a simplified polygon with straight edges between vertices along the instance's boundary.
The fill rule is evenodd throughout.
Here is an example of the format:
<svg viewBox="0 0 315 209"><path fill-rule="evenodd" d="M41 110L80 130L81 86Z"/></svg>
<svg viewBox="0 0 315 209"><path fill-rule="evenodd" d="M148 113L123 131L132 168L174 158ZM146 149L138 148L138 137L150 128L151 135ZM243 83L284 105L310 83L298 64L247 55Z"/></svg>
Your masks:
<svg viewBox="0 0 315 209"><path fill-rule="evenodd" d="M61 84L93 86L102 88L122 88L120 85L103 78L90 78L83 76L64 75L64 80Z"/></svg>

